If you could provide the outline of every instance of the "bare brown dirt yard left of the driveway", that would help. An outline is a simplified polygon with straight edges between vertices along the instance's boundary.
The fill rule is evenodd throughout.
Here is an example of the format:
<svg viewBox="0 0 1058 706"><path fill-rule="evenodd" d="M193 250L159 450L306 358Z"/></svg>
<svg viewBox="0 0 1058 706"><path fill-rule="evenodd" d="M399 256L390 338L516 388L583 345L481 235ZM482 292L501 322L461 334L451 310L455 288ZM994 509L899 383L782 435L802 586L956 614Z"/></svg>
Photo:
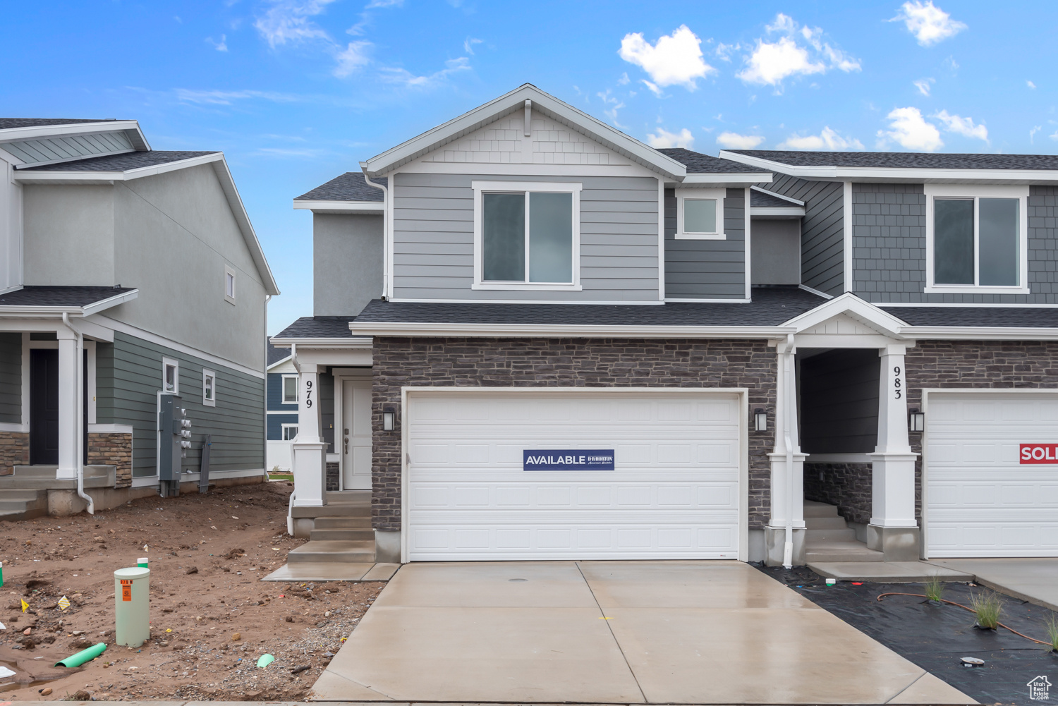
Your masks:
<svg viewBox="0 0 1058 706"><path fill-rule="evenodd" d="M238 486L0 524L0 665L16 672L0 677L4 698L302 699L385 584L259 580L304 542L286 533L291 489ZM139 557L150 560L150 639L117 647L113 572ZM52 667L101 641L94 662ZM266 653L275 662L259 669Z"/></svg>

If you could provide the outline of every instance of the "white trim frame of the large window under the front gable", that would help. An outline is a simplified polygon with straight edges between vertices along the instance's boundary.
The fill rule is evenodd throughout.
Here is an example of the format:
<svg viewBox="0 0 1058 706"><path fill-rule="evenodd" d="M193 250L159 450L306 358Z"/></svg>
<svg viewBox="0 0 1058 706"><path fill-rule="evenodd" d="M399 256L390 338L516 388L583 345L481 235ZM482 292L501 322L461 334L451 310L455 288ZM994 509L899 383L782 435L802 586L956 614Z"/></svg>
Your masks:
<svg viewBox="0 0 1058 706"><path fill-rule="evenodd" d="M473 181L474 189L474 282L471 289L536 291L536 292L579 292L581 286L581 189L577 182L546 181ZM485 192L537 192L551 194L572 194L573 197L573 280L572 283L547 282L485 282L482 263L482 211L481 194ZM526 212L528 219L529 213ZM526 248L529 247L529 231L526 230ZM526 267L529 266L528 259Z"/></svg>

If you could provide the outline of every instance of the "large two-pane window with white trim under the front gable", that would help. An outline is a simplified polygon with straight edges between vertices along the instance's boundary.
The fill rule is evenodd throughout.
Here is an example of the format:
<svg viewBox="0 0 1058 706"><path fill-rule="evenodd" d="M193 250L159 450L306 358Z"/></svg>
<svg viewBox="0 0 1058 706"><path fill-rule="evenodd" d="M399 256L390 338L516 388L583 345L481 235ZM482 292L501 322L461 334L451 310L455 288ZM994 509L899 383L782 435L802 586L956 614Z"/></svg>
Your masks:
<svg viewBox="0 0 1058 706"><path fill-rule="evenodd" d="M475 289L581 289L580 184L473 186Z"/></svg>

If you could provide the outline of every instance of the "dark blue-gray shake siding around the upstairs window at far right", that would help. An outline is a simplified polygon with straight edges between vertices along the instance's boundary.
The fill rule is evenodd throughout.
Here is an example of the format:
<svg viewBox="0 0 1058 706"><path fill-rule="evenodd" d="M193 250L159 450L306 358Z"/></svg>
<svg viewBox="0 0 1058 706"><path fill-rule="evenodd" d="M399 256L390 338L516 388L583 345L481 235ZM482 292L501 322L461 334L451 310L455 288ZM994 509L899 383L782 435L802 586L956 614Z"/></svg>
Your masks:
<svg viewBox="0 0 1058 706"><path fill-rule="evenodd" d="M869 302L1058 304L1058 187L1028 187L1028 294L926 294L922 184L853 184L853 283Z"/></svg>

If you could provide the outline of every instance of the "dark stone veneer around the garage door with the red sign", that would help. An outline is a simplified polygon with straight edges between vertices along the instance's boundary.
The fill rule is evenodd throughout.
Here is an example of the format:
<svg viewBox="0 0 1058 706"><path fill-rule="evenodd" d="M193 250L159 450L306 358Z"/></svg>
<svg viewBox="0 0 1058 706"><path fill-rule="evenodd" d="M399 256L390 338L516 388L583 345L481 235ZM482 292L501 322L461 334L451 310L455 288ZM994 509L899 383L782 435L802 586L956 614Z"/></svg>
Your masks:
<svg viewBox="0 0 1058 706"><path fill-rule="evenodd" d="M1058 342L919 341L905 358L908 409L922 409L922 391L936 387L1058 391ZM927 418L926 424L929 424ZM922 433L911 433L920 454ZM922 518L922 456L915 465L915 517Z"/></svg>

